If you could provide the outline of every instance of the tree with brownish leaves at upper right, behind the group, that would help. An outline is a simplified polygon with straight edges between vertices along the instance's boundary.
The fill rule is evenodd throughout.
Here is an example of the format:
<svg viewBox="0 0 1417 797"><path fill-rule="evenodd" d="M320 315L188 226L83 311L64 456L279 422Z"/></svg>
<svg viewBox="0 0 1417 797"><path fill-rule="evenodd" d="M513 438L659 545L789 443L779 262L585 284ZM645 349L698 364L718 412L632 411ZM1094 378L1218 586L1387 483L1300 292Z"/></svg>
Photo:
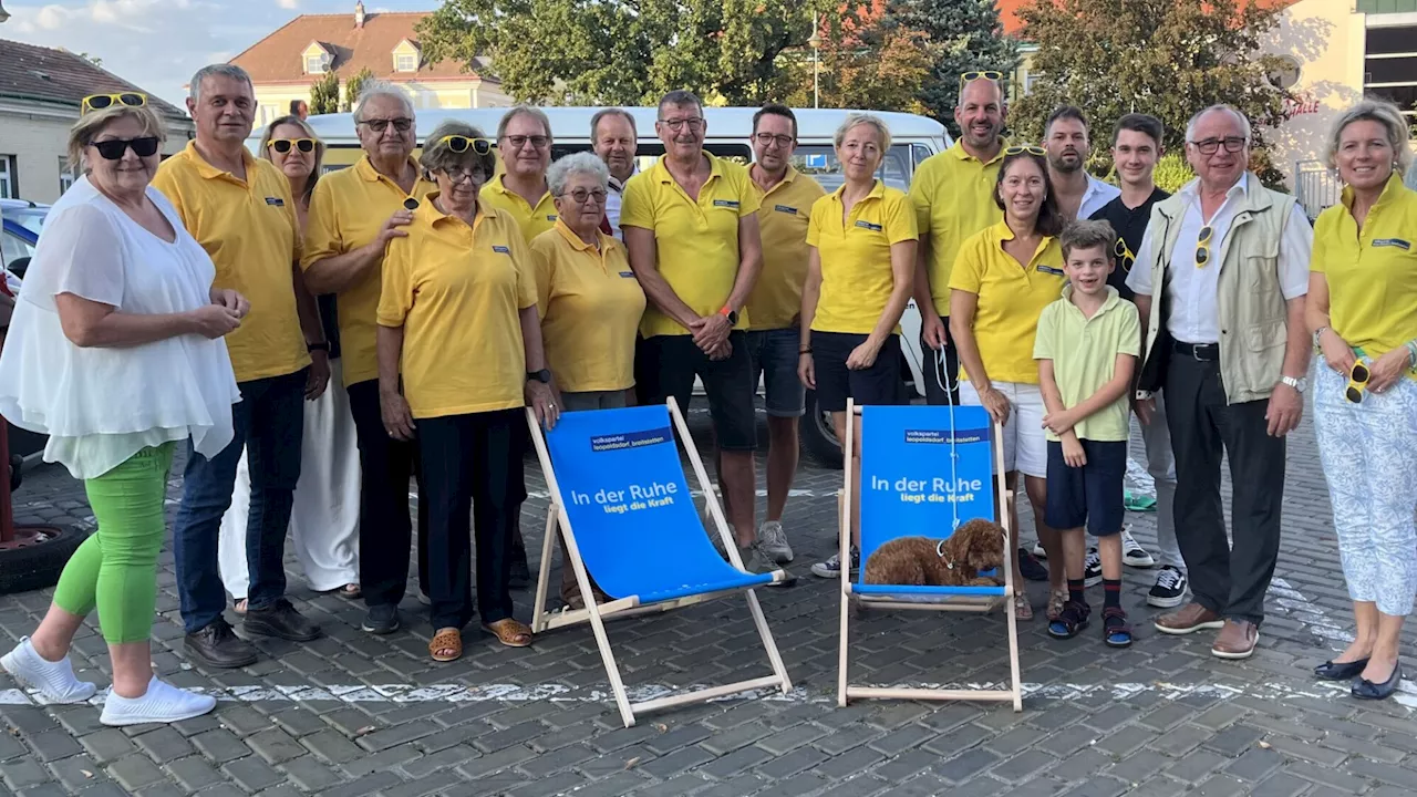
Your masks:
<svg viewBox="0 0 1417 797"><path fill-rule="evenodd" d="M1023 37L1039 45L1033 89L1010 109L1010 123L1037 140L1058 105L1087 111L1095 129L1128 112L1166 125L1180 152L1186 121L1227 102L1254 126L1251 166L1270 186L1282 174L1264 152L1264 130L1285 121L1287 94L1268 81L1280 60L1260 43L1280 6L1254 0L1033 0L1019 9ZM1105 147L1094 146L1094 152Z"/></svg>

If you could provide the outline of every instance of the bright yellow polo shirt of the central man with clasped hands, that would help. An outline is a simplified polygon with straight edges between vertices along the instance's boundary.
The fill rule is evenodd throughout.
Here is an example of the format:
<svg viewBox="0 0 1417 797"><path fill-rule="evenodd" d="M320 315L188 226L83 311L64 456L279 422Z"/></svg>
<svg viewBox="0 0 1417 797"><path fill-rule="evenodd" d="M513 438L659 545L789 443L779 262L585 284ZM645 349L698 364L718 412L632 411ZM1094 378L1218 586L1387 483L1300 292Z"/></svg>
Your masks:
<svg viewBox="0 0 1417 797"><path fill-rule="evenodd" d="M720 160L710 153L708 182L699 190L699 201L674 182L665 156L655 166L629 179L621 227L640 227L655 233L655 260L674 294L699 315L723 309L738 278L738 218L758 211L758 194L748 170ZM738 313L738 326L748 328L748 312ZM645 309L640 335L689 335L677 321Z"/></svg>

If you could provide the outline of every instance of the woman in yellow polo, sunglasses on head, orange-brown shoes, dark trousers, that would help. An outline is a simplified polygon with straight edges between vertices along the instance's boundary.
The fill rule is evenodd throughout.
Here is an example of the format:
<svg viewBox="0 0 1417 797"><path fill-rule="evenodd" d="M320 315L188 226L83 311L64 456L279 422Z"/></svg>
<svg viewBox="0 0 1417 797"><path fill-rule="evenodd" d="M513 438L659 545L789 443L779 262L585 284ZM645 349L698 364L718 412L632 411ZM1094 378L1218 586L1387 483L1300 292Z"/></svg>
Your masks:
<svg viewBox="0 0 1417 797"><path fill-rule="evenodd" d="M512 216L478 200L496 166L490 143L462 122L428 136L422 167L438 191L414 211L408 235L390 241L378 301L380 411L395 440L417 434L429 505L435 661L462 655L472 618L469 512L482 628L509 647L531 644L531 630L512 617L507 583L521 513L523 407L548 427L557 416L534 255Z"/></svg>

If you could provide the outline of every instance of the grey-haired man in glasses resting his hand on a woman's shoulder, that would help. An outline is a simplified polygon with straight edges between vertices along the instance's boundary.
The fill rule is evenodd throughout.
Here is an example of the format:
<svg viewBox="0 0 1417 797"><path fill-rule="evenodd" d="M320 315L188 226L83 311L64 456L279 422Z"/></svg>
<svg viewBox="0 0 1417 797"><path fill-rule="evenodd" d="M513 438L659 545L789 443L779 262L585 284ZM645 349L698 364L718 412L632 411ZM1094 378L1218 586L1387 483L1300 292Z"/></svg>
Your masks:
<svg viewBox="0 0 1417 797"><path fill-rule="evenodd" d="M438 190L414 160L418 129L398 88L367 84L354 106L364 155L350 169L315 184L300 265L317 294L334 294L344 386L359 437L360 590L371 634L398 630L398 601L408 587L408 479L418 468L417 441L388 437L378 410L377 311L388 241L407 235L414 208ZM419 479L419 484L422 479ZM422 489L419 489L419 494ZM418 502L419 591L428 583L428 502Z"/></svg>

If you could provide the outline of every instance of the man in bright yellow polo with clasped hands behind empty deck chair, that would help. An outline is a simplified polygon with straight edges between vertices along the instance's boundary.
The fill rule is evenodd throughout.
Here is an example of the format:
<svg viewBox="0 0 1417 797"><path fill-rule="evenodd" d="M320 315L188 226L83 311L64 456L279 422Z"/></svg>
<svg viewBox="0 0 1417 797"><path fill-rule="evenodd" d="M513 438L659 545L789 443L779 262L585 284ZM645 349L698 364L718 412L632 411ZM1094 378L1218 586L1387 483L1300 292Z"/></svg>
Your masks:
<svg viewBox="0 0 1417 797"><path fill-rule="evenodd" d="M694 377L708 394L728 520L750 569L775 569L754 535L757 427L745 329L762 262L758 196L748 170L704 152L703 102L672 91L655 132L665 155L625 186L621 228L649 308L640 322L645 397L689 406ZM750 550L751 549L751 550Z"/></svg>

